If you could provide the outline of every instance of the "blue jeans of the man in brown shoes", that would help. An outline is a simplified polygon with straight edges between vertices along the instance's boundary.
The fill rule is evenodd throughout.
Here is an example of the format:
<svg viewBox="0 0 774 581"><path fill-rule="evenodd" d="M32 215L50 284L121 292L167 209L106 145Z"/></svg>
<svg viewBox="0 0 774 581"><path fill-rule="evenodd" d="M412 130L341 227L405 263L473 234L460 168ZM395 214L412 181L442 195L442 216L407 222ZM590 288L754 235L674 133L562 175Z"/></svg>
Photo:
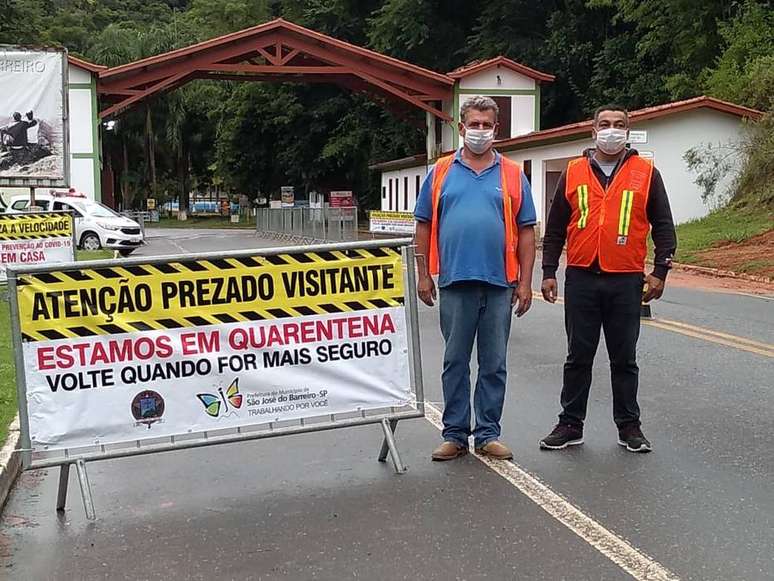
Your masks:
<svg viewBox="0 0 774 581"><path fill-rule="evenodd" d="M475 446L500 437L513 289L462 282L440 289L443 357L443 439L465 447L470 435L470 356L478 336L478 379L473 405Z"/></svg>

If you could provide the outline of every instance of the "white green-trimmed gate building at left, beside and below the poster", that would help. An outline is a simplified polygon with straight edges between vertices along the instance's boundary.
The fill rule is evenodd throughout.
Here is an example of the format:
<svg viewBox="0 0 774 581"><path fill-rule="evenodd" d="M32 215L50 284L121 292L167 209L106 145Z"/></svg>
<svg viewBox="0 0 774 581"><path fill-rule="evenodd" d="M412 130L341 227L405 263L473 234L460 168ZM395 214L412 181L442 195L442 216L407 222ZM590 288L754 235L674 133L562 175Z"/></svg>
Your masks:
<svg viewBox="0 0 774 581"><path fill-rule="evenodd" d="M70 186L89 198L101 199L101 163L99 109L97 108L97 74L105 67L68 57L67 110L70 140ZM48 193L49 188L37 188ZM6 200L26 194L29 188L0 188Z"/></svg>

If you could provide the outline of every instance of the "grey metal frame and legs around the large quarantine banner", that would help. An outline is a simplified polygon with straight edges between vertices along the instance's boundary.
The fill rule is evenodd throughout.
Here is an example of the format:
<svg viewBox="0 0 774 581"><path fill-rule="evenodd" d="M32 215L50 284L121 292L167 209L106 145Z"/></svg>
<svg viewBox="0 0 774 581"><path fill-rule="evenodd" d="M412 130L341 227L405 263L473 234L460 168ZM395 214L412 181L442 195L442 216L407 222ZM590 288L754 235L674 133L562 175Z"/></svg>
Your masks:
<svg viewBox="0 0 774 581"><path fill-rule="evenodd" d="M203 430L200 432L175 434L170 436L158 436L154 439L138 439L132 442L120 444L101 444L94 446L81 446L73 449L63 449L58 456L45 456L43 452L37 452L32 448L30 439L30 425L27 409L27 370L24 367L24 354L22 349L21 321L19 301L17 295L17 282L19 276L55 273L58 271L91 270L98 268L131 268L142 265L159 265L171 262L196 261L196 260L222 260L224 258L249 258L256 256L272 256L277 254L305 253L305 252L346 252L348 250L398 248L401 252L400 268L403 275L403 310L406 318L406 340L408 342L408 376L410 391L413 401L401 407L377 408L373 410L361 409L359 412L343 412L333 414L321 414L299 419L288 419L280 422L264 422L243 427L222 428L216 430ZM378 460L385 462L389 455L394 470L402 474L407 470L404 465L394 438L394 432L400 420L421 418L425 415L424 387L422 383L422 359L419 339L419 319L416 295L416 272L414 268L414 246L411 239L396 239L390 241L363 241L339 244L320 244L314 246L289 246L282 248L262 248L231 252L224 256L222 252L201 253L195 255L171 255L159 257L136 257L121 261L97 260L85 262L64 263L54 266L29 266L9 269L8 294L11 309L11 328L14 347L14 361L16 364L16 387L19 403L20 445L17 453L21 454L22 469L32 470L40 468L52 468L59 466L59 487L57 493L56 509L64 510L67 499L69 470L75 465L80 485L84 510L89 520L96 519L91 487L86 470L87 462L109 460L186 450L219 444L245 442L257 439L273 438L278 436L312 433L346 427L379 424L383 431L383 442L378 453ZM110 284L109 281L106 284ZM275 425L276 424L276 425ZM282 424L282 425L279 425ZM59 453L60 451L58 451ZM43 457L40 457L43 455Z"/></svg>

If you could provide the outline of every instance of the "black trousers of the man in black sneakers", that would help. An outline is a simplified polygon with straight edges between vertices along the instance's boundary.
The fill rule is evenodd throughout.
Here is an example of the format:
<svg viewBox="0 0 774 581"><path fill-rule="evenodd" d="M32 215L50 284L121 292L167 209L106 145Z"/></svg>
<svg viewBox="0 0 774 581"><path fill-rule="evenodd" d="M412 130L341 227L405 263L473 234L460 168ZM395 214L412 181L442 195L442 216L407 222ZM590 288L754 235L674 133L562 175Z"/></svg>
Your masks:
<svg viewBox="0 0 774 581"><path fill-rule="evenodd" d="M613 419L619 427L631 422L639 424L637 339L643 283L644 275L640 273L610 274L567 268L564 324L568 354L560 422L583 426L601 328L610 357Z"/></svg>

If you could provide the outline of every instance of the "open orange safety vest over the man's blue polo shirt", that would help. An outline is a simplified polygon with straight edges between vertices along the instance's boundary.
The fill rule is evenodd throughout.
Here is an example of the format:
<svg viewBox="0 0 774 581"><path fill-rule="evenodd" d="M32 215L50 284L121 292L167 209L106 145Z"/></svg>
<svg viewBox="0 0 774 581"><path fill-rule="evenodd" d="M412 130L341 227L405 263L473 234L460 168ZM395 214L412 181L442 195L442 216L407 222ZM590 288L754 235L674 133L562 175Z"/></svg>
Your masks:
<svg viewBox="0 0 774 581"><path fill-rule="evenodd" d="M430 224L430 274L440 272L438 254L438 218L441 204L441 189L454 162L454 154L442 157L433 170L432 201L433 221ZM503 221L505 222L505 278L508 283L519 279L519 231L515 217L521 208L521 168L515 161L500 156L500 184L503 190Z"/></svg>

